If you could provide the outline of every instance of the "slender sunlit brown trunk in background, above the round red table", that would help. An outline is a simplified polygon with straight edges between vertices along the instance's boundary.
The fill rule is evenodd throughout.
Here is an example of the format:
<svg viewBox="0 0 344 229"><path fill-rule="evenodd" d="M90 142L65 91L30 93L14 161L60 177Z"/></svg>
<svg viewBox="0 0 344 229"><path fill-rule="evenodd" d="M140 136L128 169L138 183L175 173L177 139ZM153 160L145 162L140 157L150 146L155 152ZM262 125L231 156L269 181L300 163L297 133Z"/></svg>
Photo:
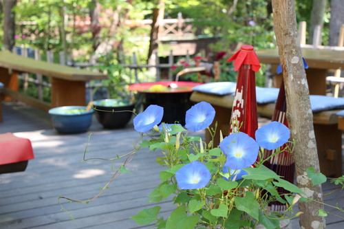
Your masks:
<svg viewBox="0 0 344 229"><path fill-rule="evenodd" d="M147 63L149 63L153 52L158 50L160 24L162 19L164 19L164 12L165 3L163 0L159 0L158 7L153 9L153 21L151 23L151 39L149 41Z"/></svg>

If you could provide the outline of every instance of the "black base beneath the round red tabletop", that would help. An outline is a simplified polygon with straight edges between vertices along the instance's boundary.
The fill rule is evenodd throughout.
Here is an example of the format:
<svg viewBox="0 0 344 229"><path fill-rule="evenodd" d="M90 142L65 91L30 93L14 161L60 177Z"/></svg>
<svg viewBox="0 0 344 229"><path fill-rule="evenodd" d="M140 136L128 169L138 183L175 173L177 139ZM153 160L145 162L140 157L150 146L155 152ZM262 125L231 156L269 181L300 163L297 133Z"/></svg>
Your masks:
<svg viewBox="0 0 344 229"><path fill-rule="evenodd" d="M147 93L144 94L143 107L146 109L149 105L159 105L164 107L164 116L162 122L175 123L178 121L184 126L185 113L194 105L190 101L192 92L184 93Z"/></svg>

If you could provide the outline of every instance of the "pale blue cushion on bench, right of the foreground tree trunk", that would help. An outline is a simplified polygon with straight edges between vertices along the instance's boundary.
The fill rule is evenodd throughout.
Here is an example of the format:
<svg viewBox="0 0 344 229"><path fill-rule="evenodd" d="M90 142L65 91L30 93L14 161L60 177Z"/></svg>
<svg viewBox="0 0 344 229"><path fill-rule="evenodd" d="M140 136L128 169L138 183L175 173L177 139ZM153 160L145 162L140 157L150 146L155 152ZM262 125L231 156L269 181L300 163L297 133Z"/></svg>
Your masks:
<svg viewBox="0 0 344 229"><path fill-rule="evenodd" d="M313 112L344 109L344 98L310 95L310 106Z"/></svg>

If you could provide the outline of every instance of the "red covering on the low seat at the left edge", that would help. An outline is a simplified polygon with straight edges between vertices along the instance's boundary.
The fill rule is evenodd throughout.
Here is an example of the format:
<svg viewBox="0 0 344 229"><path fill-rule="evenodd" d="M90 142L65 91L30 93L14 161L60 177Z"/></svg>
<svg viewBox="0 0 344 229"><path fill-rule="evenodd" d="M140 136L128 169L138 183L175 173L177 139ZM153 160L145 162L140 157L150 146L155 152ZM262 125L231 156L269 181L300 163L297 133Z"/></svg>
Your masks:
<svg viewBox="0 0 344 229"><path fill-rule="evenodd" d="M12 133L0 134L0 164L10 164L34 159L28 138L18 138Z"/></svg>

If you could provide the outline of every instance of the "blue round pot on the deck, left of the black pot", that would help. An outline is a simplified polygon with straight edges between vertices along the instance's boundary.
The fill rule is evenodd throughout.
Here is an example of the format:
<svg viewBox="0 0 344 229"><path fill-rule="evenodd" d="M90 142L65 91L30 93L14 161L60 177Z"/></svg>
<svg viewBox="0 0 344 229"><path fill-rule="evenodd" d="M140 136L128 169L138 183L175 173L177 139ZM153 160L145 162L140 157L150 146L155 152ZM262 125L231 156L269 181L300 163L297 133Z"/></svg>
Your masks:
<svg viewBox="0 0 344 229"><path fill-rule="evenodd" d="M76 109L84 111L75 112ZM52 125L59 133L82 133L88 131L92 124L92 113L84 106L55 107L49 110Z"/></svg>

